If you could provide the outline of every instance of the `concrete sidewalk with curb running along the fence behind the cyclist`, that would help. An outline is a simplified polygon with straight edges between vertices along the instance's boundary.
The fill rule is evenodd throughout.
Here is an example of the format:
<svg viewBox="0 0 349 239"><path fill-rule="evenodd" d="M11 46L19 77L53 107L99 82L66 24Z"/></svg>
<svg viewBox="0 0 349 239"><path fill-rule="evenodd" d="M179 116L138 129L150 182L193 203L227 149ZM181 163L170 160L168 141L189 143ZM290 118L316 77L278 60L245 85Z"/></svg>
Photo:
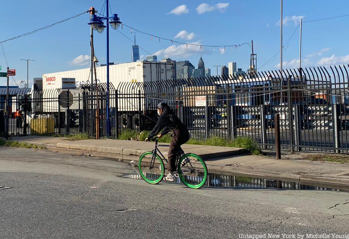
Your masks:
<svg viewBox="0 0 349 239"><path fill-rule="evenodd" d="M42 145L54 151L67 152L68 149L123 161L137 161L143 152L154 148L154 142L116 139L71 141L63 137L17 136L11 140ZM210 173L300 182L349 191L349 164L246 155L239 148L229 147L184 144L182 148L184 152L195 153L205 159ZM160 150L167 156L167 147Z"/></svg>

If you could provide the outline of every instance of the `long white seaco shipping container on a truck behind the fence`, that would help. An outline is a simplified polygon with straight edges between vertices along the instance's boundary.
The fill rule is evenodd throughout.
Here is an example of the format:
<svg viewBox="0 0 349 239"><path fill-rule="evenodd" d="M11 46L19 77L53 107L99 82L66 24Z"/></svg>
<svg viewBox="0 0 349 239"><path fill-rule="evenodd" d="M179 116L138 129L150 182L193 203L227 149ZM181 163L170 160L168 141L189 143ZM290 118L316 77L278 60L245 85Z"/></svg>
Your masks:
<svg viewBox="0 0 349 239"><path fill-rule="evenodd" d="M130 62L123 64L116 64L109 66L109 82L117 88L121 82L157 82L165 80L174 79L174 65L173 63L168 62L149 62L149 61L140 61L140 62ZM97 81L98 83L106 83L107 81L107 67L101 66L96 68ZM95 83L95 76L92 84ZM90 68L73 70L73 71L64 71L56 73L47 73L42 76L42 88L44 90L43 98L57 98L58 93L54 89L67 88L67 82L70 83L75 81L75 86L79 87L84 84L91 84ZM112 89L112 88L111 88ZM127 88L125 89L127 91ZM123 90L123 91L125 91ZM132 90L132 88L131 88ZM143 90L141 89L142 93ZM121 92L126 94L134 93L132 92ZM64 100L63 100L64 101ZM79 101L76 97L74 101ZM80 100L81 101L81 100ZM67 102L69 103L69 102ZM73 103L73 102L71 102ZM80 102L81 105L82 102ZM125 105L119 100L119 111L126 111L134 109L134 104ZM150 101L147 100L145 103L143 100L141 102L141 109L144 109L144 104L150 105ZM66 104L65 104L66 105ZM111 105L114 105L113 103ZM79 104L74 102L74 104L69 104L71 110L79 109ZM61 111L64 111L65 108L62 108ZM58 105L47 104L43 105L43 112L57 112Z"/></svg>

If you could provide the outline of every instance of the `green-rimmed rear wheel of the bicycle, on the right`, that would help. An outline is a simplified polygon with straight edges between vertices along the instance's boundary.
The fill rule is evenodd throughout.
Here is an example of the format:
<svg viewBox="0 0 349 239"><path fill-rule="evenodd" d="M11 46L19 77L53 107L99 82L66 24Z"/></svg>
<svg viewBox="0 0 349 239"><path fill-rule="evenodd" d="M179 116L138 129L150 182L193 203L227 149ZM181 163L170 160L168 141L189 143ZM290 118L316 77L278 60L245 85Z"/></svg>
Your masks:
<svg viewBox="0 0 349 239"><path fill-rule="evenodd" d="M207 181L207 166L202 158L193 153L186 153L179 159L177 172L188 188L201 188Z"/></svg>

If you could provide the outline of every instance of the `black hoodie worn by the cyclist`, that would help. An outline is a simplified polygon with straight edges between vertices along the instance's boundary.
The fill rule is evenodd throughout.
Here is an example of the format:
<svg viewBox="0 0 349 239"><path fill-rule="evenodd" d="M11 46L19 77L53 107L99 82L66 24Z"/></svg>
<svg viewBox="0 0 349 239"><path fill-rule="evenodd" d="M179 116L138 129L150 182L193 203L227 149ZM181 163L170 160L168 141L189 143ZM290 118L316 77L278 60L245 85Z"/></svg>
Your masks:
<svg viewBox="0 0 349 239"><path fill-rule="evenodd" d="M165 106L163 114L159 117L157 124L153 130L149 133L148 138L152 138L161 131L161 135L167 134L170 130L179 129L182 132L188 132L186 126L178 119L169 106Z"/></svg>

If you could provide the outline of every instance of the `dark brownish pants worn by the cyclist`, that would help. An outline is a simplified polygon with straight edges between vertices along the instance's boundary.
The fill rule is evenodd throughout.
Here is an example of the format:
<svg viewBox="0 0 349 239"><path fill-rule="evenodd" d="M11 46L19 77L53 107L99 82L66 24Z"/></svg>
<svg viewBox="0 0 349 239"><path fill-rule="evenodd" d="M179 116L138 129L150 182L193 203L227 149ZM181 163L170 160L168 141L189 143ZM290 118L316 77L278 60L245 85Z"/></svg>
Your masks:
<svg viewBox="0 0 349 239"><path fill-rule="evenodd" d="M179 129L173 130L169 153L168 153L168 157L169 157L168 167L170 172L176 171L175 159L180 149L180 145L186 143L189 140L189 138L190 138L190 134L187 130L179 130Z"/></svg>

